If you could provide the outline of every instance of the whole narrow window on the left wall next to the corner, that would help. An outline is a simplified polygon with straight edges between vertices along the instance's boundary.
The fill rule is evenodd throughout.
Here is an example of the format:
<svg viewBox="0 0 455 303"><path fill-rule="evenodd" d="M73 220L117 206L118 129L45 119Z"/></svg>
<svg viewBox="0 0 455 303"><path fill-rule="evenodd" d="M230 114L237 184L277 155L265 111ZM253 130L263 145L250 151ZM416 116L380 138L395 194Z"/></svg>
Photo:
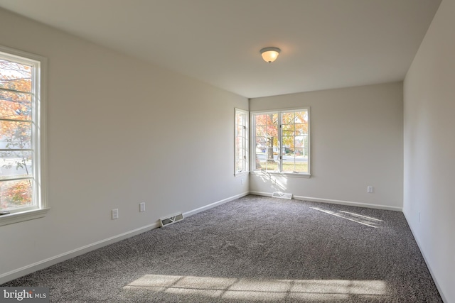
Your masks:
<svg viewBox="0 0 455 303"><path fill-rule="evenodd" d="M235 175L248 173L248 111L235 109Z"/></svg>

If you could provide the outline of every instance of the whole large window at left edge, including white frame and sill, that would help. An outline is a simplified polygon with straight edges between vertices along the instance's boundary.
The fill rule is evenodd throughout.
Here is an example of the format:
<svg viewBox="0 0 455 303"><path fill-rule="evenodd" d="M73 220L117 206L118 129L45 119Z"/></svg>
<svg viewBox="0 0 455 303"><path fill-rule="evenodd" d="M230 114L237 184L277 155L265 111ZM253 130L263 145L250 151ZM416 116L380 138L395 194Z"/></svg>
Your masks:
<svg viewBox="0 0 455 303"><path fill-rule="evenodd" d="M0 225L45 214L45 59L0 47Z"/></svg>

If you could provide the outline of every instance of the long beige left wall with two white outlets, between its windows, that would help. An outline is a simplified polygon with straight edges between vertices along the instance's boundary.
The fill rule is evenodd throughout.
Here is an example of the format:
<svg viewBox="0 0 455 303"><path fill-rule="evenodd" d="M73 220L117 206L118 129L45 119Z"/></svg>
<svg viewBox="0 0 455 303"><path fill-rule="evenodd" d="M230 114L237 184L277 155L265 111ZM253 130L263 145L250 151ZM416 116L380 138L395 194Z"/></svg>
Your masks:
<svg viewBox="0 0 455 303"><path fill-rule="evenodd" d="M0 28L1 45L48 57L51 207L43 219L0 226L0 283L161 216L248 192L233 160L234 108L248 109L245 97L1 9Z"/></svg>

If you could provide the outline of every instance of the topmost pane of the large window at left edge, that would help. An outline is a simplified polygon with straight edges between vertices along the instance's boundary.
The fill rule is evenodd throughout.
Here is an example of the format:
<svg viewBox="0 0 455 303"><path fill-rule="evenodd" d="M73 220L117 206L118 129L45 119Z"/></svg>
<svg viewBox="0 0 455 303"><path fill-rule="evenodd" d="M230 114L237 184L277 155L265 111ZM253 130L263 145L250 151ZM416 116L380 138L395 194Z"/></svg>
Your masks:
<svg viewBox="0 0 455 303"><path fill-rule="evenodd" d="M0 88L31 92L31 66L0 59Z"/></svg>

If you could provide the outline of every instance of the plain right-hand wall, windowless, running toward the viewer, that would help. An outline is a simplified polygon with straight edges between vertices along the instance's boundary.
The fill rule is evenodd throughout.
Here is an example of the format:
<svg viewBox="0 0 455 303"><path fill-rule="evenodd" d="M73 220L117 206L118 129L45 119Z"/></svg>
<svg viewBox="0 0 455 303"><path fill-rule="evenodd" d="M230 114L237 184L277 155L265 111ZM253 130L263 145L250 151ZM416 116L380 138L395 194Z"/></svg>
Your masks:
<svg viewBox="0 0 455 303"><path fill-rule="evenodd" d="M455 1L443 0L404 84L403 211L445 302L455 302L454 28Z"/></svg>

